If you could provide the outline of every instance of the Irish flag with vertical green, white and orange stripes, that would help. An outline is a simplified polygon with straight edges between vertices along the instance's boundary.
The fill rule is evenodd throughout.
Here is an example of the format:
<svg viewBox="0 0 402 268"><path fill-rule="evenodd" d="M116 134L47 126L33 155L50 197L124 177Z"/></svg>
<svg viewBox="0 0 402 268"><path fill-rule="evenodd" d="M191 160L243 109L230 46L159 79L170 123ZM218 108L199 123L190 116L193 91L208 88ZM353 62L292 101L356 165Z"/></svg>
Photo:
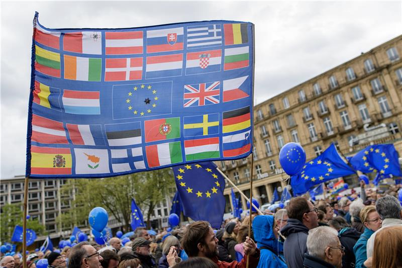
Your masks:
<svg viewBox="0 0 402 268"><path fill-rule="evenodd" d="M64 55L64 78L80 81L100 81L102 59Z"/></svg>

